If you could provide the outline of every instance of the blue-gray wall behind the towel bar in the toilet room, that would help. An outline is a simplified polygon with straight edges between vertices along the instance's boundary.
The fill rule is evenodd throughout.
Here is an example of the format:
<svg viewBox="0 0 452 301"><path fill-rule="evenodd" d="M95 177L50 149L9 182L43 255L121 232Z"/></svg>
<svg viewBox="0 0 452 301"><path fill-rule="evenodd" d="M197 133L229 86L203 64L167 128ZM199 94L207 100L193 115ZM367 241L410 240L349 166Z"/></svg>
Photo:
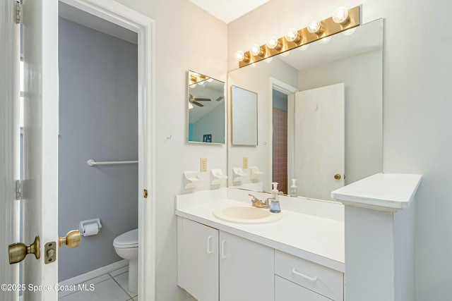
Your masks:
<svg viewBox="0 0 452 301"><path fill-rule="evenodd" d="M59 20L59 234L99 217L98 235L61 247L59 281L121 260L112 242L138 228L137 47Z"/></svg>

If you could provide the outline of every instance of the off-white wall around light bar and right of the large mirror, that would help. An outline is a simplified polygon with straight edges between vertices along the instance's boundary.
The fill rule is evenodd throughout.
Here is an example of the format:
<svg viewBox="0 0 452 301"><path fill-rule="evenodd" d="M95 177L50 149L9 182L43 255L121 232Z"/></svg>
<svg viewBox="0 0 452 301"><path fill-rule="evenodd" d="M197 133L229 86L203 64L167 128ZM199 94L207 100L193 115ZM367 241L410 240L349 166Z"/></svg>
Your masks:
<svg viewBox="0 0 452 301"><path fill-rule="evenodd" d="M271 0L228 26L228 67L237 68L238 49L328 18L336 6L360 4L363 23L385 19L383 171L424 174L416 199L416 300L450 300L452 2Z"/></svg>

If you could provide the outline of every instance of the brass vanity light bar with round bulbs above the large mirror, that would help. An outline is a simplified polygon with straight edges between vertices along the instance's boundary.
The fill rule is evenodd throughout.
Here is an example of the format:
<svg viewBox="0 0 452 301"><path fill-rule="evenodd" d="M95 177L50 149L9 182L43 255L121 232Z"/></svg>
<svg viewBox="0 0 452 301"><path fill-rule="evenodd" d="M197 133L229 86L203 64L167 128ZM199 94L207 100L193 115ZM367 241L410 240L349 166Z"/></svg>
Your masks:
<svg viewBox="0 0 452 301"><path fill-rule="evenodd" d="M290 28L284 37L272 36L266 44L260 47L257 44L251 46L250 51L237 51L236 59L239 61L239 68L251 65L258 61L270 61L272 56L287 53L298 48L306 49L307 45L319 39L324 39L338 32L350 30L359 25L359 6L347 9L345 7L337 8L331 18L325 20L313 21L301 30ZM326 42L323 40L322 42Z"/></svg>

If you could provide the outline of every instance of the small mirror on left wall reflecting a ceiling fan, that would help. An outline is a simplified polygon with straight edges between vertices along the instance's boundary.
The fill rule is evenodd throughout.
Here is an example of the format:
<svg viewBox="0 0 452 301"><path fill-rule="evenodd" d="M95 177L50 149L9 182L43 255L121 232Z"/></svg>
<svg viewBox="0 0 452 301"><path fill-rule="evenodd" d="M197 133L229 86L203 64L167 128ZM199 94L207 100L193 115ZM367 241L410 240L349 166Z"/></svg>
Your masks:
<svg viewBox="0 0 452 301"><path fill-rule="evenodd" d="M225 82L189 70L187 140L225 143Z"/></svg>

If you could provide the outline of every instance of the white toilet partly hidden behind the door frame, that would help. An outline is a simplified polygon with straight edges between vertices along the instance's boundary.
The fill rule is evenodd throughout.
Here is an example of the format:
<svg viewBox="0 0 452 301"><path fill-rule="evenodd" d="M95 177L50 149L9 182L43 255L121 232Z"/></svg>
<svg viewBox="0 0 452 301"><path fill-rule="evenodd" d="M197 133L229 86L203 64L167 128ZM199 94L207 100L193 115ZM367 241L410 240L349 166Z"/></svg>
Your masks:
<svg viewBox="0 0 452 301"><path fill-rule="evenodd" d="M119 235L113 240L117 254L129 259L129 292L138 293L138 229Z"/></svg>

